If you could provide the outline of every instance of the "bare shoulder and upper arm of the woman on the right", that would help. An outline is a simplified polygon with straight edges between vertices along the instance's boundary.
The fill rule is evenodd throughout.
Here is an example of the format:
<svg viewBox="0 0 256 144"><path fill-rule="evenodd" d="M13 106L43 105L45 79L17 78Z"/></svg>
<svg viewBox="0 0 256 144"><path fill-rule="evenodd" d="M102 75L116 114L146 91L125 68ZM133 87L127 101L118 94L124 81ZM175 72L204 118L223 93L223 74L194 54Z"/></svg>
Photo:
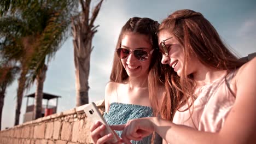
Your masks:
<svg viewBox="0 0 256 144"><path fill-rule="evenodd" d="M245 63L235 75L235 103L225 120L220 134L226 140L236 140L238 143L254 141L256 135L256 58ZM234 121L235 119L235 121ZM227 136L228 135L228 136ZM254 141L255 142L255 141Z"/></svg>

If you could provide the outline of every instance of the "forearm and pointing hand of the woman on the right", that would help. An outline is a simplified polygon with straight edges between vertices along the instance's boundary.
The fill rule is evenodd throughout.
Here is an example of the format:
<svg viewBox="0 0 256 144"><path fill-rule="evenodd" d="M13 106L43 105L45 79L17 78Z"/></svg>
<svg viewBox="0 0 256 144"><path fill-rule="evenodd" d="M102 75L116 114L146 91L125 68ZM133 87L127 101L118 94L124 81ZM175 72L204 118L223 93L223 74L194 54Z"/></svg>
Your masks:
<svg viewBox="0 0 256 144"><path fill-rule="evenodd" d="M167 143L218 143L217 133L197 131L184 125L177 125L158 117L132 119L126 125L112 126L115 130L123 130L122 139L129 143L130 140L142 139L156 131Z"/></svg>

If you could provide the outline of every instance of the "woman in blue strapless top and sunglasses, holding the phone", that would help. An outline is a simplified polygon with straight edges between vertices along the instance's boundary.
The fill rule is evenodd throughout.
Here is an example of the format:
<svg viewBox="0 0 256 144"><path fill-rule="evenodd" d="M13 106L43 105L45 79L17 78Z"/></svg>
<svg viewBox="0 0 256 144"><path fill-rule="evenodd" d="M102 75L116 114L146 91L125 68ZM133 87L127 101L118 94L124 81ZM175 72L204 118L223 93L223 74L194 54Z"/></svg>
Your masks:
<svg viewBox="0 0 256 144"><path fill-rule="evenodd" d="M158 105L165 95L162 70L166 67L161 64L156 34L158 27L159 23L152 19L132 17L121 29L105 93L104 118L109 125L125 124L130 119L158 115L153 109L161 109ZM153 104L150 103L150 98L155 99ZM104 125L100 125L101 123L96 123L91 127L95 143L111 139L110 135L100 136L104 129ZM116 132L121 136L121 131ZM151 138L152 136L144 137L132 143L150 143Z"/></svg>

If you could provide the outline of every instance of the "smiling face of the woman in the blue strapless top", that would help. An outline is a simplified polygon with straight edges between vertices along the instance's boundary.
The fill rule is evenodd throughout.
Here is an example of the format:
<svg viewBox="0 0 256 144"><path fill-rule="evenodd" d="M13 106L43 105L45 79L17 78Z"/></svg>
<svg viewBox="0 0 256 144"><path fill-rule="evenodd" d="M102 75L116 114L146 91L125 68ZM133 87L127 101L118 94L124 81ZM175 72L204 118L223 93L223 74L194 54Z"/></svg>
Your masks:
<svg viewBox="0 0 256 144"><path fill-rule="evenodd" d="M135 50L141 49L150 53L152 45L149 43L149 38L143 34L127 33L121 40L121 47ZM133 51L126 58L121 59L121 63L130 77L146 77L148 76L151 55L146 61L139 61Z"/></svg>

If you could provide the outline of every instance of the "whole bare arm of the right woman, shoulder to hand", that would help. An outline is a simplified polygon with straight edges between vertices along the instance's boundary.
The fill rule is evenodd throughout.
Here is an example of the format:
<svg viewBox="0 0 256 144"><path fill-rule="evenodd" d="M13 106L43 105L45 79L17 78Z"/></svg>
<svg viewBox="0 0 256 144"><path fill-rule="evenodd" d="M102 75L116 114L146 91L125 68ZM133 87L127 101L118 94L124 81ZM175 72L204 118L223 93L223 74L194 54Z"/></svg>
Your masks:
<svg viewBox="0 0 256 144"><path fill-rule="evenodd" d="M219 133L208 133L177 125L157 117L133 119L123 131L127 140L156 131L168 143L255 143L256 58L243 65L235 76L236 100Z"/></svg>

